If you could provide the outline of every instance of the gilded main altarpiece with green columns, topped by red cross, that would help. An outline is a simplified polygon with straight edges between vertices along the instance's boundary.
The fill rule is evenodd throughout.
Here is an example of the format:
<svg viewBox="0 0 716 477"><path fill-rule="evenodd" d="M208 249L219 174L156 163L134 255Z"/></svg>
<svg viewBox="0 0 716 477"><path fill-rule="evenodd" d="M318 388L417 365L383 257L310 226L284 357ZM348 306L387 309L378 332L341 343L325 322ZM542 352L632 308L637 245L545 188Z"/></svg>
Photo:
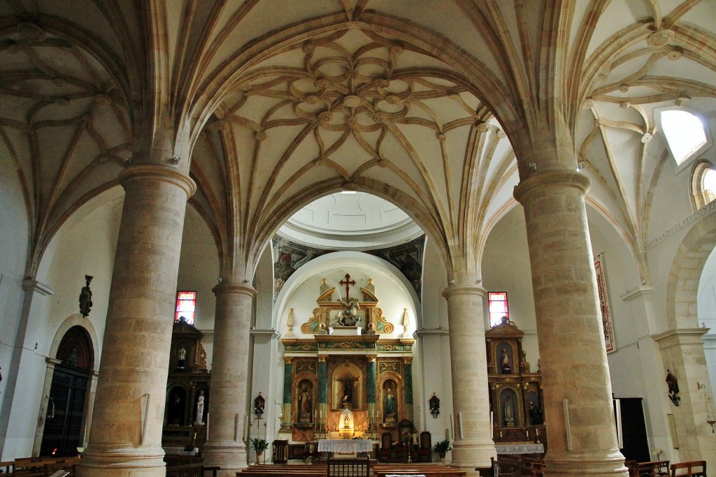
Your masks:
<svg viewBox="0 0 716 477"><path fill-rule="evenodd" d="M367 438L390 433L400 441L398 423L413 421L413 338L393 338L395 326L382 315L372 280L361 299L334 300L326 280L311 317L294 336L292 311L284 345L284 396L279 437L294 442ZM407 314L407 310L405 310ZM407 323L404 320L404 324ZM309 335L306 338L305 335ZM311 336L312 335L312 336ZM390 335L390 338L389 338Z"/></svg>

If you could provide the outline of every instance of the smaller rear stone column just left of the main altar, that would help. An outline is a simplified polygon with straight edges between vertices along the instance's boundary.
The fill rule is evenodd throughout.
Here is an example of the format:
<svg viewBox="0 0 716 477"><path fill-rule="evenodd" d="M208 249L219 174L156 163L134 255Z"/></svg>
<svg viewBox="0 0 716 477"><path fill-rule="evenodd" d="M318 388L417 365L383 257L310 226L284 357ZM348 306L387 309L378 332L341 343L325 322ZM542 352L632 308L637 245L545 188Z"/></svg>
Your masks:
<svg viewBox="0 0 716 477"><path fill-rule="evenodd" d="M216 295L211 368L208 438L203 448L207 466L220 466L221 476L246 468L243 441L248 373L248 327L256 290L248 283L224 280Z"/></svg>

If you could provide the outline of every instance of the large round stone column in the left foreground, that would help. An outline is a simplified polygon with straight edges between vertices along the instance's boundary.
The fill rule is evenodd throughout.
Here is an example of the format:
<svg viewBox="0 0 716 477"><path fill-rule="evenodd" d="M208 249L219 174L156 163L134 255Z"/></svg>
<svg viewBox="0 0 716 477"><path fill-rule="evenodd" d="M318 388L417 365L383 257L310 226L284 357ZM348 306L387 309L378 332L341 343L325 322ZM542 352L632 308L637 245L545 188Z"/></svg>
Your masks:
<svg viewBox="0 0 716 477"><path fill-rule="evenodd" d="M163 476L162 422L186 201L175 167L120 174L124 210L112 273L100 380L79 476Z"/></svg>

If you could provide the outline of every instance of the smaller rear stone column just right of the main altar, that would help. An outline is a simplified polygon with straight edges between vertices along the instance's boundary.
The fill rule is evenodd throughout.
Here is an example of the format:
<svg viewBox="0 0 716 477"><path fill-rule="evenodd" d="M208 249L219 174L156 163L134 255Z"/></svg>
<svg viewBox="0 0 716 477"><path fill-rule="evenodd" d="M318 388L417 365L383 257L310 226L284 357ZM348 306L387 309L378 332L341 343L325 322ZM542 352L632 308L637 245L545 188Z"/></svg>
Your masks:
<svg viewBox="0 0 716 477"><path fill-rule="evenodd" d="M450 285L448 299L450 366L453 373L455 443L453 466L475 475L475 468L490 468L497 455L490 428L487 352L483 297L477 285Z"/></svg>

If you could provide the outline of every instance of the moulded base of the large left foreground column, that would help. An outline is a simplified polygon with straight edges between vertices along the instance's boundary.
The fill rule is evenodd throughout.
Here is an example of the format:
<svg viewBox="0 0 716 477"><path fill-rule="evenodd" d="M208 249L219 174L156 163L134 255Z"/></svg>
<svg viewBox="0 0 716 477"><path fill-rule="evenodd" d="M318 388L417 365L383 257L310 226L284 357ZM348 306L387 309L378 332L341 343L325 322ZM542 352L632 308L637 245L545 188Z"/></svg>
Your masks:
<svg viewBox="0 0 716 477"><path fill-rule="evenodd" d="M153 448L87 449L77 467L77 477L164 477L164 450Z"/></svg>

